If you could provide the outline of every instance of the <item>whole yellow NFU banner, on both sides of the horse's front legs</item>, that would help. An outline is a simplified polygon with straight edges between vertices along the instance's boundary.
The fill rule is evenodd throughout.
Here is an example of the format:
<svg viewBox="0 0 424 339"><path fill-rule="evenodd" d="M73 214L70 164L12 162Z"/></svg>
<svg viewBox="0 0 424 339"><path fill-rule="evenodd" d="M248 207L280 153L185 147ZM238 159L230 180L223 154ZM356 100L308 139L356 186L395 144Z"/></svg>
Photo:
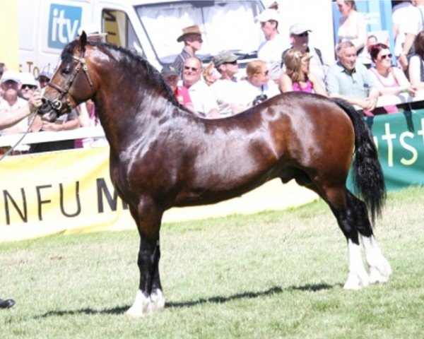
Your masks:
<svg viewBox="0 0 424 339"><path fill-rule="evenodd" d="M0 242L59 232L136 229L109 174L109 148L5 157L0 162ZM172 208L164 222L278 210L317 195L274 179L244 196L210 206Z"/></svg>

